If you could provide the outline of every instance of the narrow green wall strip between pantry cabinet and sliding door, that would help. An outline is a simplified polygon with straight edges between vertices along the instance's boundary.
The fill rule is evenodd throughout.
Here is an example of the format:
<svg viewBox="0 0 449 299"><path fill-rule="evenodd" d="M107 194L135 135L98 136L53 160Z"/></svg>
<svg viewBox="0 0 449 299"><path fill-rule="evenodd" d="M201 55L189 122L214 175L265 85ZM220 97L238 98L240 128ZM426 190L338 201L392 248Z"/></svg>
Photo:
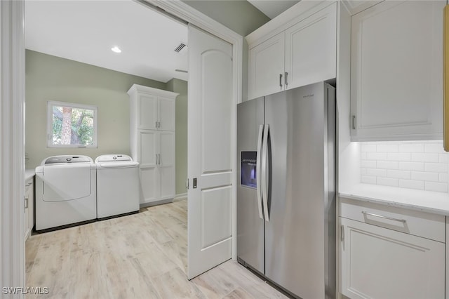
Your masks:
<svg viewBox="0 0 449 299"><path fill-rule="evenodd" d="M187 81L171 79L167 90L179 93L176 97L176 194L185 194L187 188Z"/></svg>

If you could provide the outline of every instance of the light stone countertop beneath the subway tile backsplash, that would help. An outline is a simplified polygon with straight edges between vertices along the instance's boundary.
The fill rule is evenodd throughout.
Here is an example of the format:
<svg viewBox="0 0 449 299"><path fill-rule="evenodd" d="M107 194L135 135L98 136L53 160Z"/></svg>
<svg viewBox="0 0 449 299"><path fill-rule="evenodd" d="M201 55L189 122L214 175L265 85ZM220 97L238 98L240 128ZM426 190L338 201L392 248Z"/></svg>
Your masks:
<svg viewBox="0 0 449 299"><path fill-rule="evenodd" d="M449 194L443 192L358 184L338 194L348 199L449 216Z"/></svg>

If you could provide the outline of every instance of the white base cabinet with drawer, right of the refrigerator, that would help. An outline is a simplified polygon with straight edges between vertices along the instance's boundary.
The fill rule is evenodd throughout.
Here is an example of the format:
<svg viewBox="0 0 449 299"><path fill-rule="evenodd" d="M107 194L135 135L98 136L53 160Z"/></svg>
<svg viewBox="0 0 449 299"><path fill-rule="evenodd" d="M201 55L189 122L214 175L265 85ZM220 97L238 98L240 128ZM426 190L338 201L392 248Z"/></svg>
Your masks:
<svg viewBox="0 0 449 299"><path fill-rule="evenodd" d="M445 217L352 205L340 217L340 293L347 298L445 298ZM418 237L433 231L436 241Z"/></svg>

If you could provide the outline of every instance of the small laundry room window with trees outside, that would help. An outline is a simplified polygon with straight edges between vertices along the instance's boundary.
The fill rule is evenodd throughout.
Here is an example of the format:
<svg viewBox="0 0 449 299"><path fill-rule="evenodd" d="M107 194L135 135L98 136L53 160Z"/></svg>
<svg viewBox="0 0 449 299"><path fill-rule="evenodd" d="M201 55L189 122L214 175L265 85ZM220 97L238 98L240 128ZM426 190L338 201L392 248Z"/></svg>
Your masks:
<svg viewBox="0 0 449 299"><path fill-rule="evenodd" d="M48 147L97 147L97 107L47 102Z"/></svg>

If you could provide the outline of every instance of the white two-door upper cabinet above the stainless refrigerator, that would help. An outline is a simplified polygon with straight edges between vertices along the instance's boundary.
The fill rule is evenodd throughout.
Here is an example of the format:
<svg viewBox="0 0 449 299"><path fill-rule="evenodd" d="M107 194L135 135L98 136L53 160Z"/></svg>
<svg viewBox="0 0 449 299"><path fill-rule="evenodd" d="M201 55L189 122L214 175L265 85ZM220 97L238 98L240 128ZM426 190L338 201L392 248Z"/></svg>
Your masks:
<svg viewBox="0 0 449 299"><path fill-rule="evenodd" d="M249 98L335 78L337 3L304 1L284 14L246 37Z"/></svg>

